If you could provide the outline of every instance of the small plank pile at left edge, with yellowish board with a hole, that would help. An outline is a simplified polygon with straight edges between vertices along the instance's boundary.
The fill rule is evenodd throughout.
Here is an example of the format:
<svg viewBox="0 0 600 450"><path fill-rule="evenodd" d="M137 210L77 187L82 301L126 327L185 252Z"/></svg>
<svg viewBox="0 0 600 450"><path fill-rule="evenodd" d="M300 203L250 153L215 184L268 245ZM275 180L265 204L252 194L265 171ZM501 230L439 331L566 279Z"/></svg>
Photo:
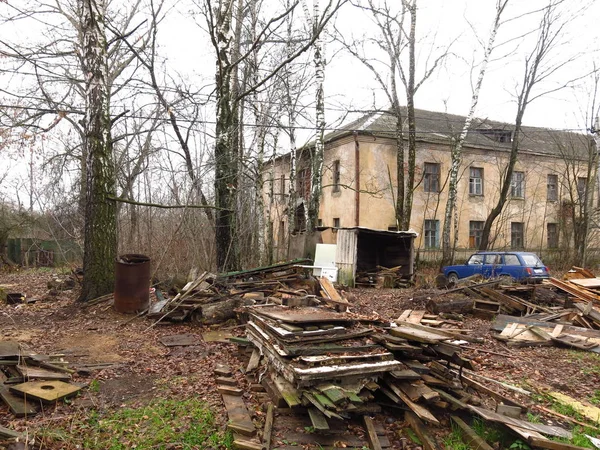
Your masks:
<svg viewBox="0 0 600 450"><path fill-rule="evenodd" d="M31 353L15 341L0 341L0 398L16 417L33 416L42 403L79 392L81 386L70 382L74 372L60 355Z"/></svg>

